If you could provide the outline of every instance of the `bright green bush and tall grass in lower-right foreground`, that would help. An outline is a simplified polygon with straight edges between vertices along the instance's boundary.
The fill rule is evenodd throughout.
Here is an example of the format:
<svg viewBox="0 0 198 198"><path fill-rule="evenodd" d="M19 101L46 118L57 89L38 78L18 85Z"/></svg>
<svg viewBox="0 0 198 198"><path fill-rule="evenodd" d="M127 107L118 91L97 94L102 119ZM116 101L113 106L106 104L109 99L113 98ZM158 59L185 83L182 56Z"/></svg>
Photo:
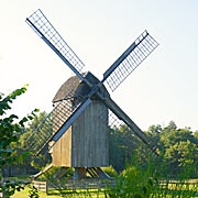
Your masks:
<svg viewBox="0 0 198 198"><path fill-rule="evenodd" d="M193 184L189 180L191 167L183 169L173 180L168 178L167 173L163 172L165 164L156 166L155 163L148 161L147 165L142 167L138 158L134 160L135 163L128 165L116 177L116 186L108 185L105 191L107 198L196 197L198 183Z"/></svg>

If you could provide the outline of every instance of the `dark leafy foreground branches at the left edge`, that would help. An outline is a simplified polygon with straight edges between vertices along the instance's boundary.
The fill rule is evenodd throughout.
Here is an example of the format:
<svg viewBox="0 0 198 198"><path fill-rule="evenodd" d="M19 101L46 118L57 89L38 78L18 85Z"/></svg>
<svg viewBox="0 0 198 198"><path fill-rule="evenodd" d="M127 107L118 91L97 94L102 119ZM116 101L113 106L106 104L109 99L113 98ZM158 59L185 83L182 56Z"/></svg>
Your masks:
<svg viewBox="0 0 198 198"><path fill-rule="evenodd" d="M0 95L0 169L2 169L3 166L9 166L14 162L20 161L20 158L24 158L26 155L26 153L23 153L20 156L13 156L12 154L14 151L10 148L10 145L19 140L24 123L32 120L35 112L38 110L35 109L31 114L21 120L19 120L15 114L7 116L7 111L11 109L10 105L13 100L25 91L26 87L22 87L7 97L2 94ZM2 180L2 176L0 176L0 180ZM15 190L21 190L22 188L23 187L19 183L11 184L9 180L0 183L0 191L3 191L6 197L10 197Z"/></svg>

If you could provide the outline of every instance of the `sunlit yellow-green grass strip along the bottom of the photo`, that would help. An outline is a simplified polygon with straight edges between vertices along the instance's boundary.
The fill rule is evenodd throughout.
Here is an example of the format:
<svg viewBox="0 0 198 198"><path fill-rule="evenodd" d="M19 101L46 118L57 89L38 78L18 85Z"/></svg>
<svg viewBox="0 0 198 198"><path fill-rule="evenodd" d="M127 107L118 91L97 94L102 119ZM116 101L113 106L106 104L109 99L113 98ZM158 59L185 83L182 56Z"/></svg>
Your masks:
<svg viewBox="0 0 198 198"><path fill-rule="evenodd" d="M187 198L187 197L198 197L198 180L187 180L188 184L184 184L184 183L180 183L180 180L166 180L166 182L162 182L161 183L161 187L155 187L153 186L152 189L151 189L151 193L147 194L147 195L143 195L142 193L139 194L141 195L140 198L144 198L144 197L158 197L158 198ZM194 184L191 184L191 182ZM174 183L174 184L173 184ZM121 191L124 191L123 188L125 188L124 186L120 186L121 187ZM138 187L138 186L136 186ZM119 188L119 187L118 187ZM132 190L135 190L134 188L132 189L130 186L129 186L130 189L127 189L125 190L129 190L128 193L132 191ZM25 187L24 190L21 190L21 191L16 191L11 198L29 198L29 190L30 188ZM113 191L113 189L111 190L111 193L118 193L118 194L114 194L116 197L123 197L125 198L127 195L129 195L128 193L125 195L119 195L119 190L116 189ZM65 197L73 197L73 198L82 198L82 197L92 197L92 198L105 198L105 194L102 191L98 193L98 190L77 190L77 195L76 194L67 194L67 196ZM63 196L61 196L59 191L53 191L51 193L50 195L46 195L45 193L42 193L40 191L38 193L40 197L41 198L61 198ZM136 194L138 195L138 194ZM110 196L108 196L110 197Z"/></svg>

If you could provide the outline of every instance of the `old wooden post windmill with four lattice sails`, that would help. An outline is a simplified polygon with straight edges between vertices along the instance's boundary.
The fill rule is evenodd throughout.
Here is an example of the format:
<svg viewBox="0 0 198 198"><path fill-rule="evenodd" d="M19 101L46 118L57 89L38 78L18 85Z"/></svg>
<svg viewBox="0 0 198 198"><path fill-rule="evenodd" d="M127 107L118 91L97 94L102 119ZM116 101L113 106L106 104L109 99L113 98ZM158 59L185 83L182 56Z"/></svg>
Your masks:
<svg viewBox="0 0 198 198"><path fill-rule="evenodd" d="M54 110L28 140L35 155L46 150L52 153L53 163L43 172L52 166L61 166L63 169L58 174L63 175L69 167L75 167L75 178L84 178L87 172L92 177L107 177L100 167L109 165L107 127L110 112L153 150L146 135L111 99L105 86L107 84L114 91L158 46L147 31L130 45L99 80L90 72L81 73L84 63L40 9L26 18L26 23L76 75L59 88L53 99Z"/></svg>

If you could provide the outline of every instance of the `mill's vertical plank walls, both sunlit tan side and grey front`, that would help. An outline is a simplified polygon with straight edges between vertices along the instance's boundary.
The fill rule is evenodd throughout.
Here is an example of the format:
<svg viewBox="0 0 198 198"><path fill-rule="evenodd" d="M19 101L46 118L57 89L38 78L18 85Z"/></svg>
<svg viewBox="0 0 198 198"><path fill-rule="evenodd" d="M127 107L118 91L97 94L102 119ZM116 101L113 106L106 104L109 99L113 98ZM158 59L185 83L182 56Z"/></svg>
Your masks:
<svg viewBox="0 0 198 198"><path fill-rule="evenodd" d="M100 100L82 112L53 147L53 166L106 167L109 165L108 109ZM59 116L61 117L61 116Z"/></svg>

